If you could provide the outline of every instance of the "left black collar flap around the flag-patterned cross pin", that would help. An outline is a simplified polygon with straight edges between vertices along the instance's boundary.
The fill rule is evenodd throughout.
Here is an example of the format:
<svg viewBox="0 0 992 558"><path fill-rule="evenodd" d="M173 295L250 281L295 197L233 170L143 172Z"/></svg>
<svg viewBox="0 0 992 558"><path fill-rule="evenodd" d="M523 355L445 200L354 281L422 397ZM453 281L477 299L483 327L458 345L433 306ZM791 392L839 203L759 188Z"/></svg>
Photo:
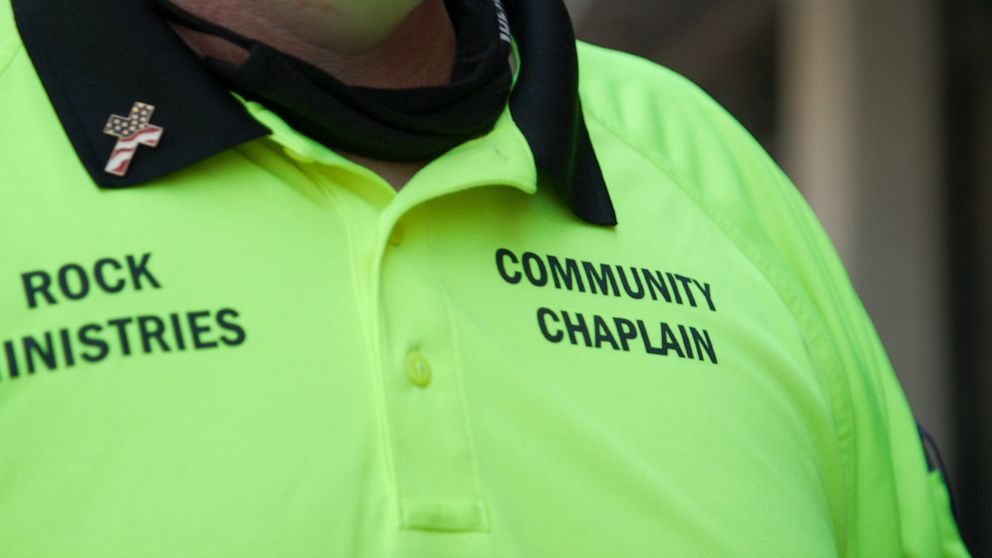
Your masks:
<svg viewBox="0 0 992 558"><path fill-rule="evenodd" d="M217 84L193 52L140 0L14 0L21 38L66 134L93 180L136 186L269 134ZM126 176L104 171L117 140L112 114L155 107L165 129Z"/></svg>

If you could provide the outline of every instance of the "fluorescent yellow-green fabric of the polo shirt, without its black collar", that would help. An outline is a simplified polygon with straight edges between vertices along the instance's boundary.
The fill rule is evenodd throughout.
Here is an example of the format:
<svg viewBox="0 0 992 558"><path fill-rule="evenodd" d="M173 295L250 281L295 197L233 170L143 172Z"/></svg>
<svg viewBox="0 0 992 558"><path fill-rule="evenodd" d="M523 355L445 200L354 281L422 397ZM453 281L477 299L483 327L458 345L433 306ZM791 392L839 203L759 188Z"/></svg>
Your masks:
<svg viewBox="0 0 992 558"><path fill-rule="evenodd" d="M612 229L508 114L396 194L249 105L109 191L8 12L3 556L967 555L825 234L678 76L580 48Z"/></svg>

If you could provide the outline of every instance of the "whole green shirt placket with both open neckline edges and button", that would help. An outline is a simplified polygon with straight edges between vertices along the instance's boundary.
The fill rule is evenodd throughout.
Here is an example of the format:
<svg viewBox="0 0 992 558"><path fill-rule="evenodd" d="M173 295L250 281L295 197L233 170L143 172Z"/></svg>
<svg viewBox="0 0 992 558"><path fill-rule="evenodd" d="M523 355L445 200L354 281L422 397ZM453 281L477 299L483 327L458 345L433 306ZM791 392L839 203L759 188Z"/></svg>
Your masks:
<svg viewBox="0 0 992 558"><path fill-rule="evenodd" d="M260 114L270 128L282 125L270 113ZM334 173L318 169L344 169L351 177L348 185L337 185L345 188L339 194L348 214L341 217L352 235L350 265L355 296L364 307L368 372L399 527L489 531L465 397L466 371L452 309L431 265L431 218L424 215L433 200L481 186L533 193L536 173L522 135L504 115L490 136L432 163L398 195L368 169L295 133L274 139L321 175L321 182Z"/></svg>

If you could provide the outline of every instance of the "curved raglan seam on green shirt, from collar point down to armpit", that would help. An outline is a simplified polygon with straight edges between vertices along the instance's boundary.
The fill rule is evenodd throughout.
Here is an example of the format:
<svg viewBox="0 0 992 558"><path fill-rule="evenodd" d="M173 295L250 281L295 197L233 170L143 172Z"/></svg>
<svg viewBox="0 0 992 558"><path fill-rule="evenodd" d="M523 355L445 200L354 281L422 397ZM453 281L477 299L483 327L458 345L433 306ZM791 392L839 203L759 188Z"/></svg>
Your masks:
<svg viewBox="0 0 992 558"><path fill-rule="evenodd" d="M811 346L810 358L824 375L823 384L821 384L824 391L823 396L828 400L828 409L831 413L834 428L834 438L842 456L842 474L844 476L843 482L845 483L845 516L844 523L841 526L841 540L847 540L849 525L853 520L852 510L854 495L856 494L853 476L857 470L857 452L853 436L853 410L850 407L848 397L845 396L845 394L850 393L846 376L842 370L839 370L839 366L836 363L831 363L829 359L823 356L825 349L829 348L830 336L828 332L814 318L815 312L809 307L808 303L804 302L803 296L796 289L790 287L787 281L774 271L774 266L771 262L749 248L749 242L745 239L744 234L733 223L723 218L719 211L712 208L705 200L687 188L686 184L688 181L684 177L680 176L673 169L669 169L657 157L638 147L635 142L630 140L625 134L617 131L595 112L588 109L585 109L584 112L587 118L601 126L667 176L699 208L706 218L720 230L724 237L737 248L737 251L754 266L758 273L764 277L786 310L792 315L793 320L796 321L797 325L804 332L804 337L807 338Z"/></svg>

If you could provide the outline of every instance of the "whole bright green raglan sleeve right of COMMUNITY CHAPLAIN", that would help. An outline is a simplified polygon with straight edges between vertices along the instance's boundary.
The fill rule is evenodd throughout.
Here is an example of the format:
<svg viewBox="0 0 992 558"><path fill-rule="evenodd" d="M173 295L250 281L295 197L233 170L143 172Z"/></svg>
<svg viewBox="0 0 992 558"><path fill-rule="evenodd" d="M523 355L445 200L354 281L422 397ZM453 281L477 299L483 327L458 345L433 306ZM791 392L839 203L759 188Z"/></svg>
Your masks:
<svg viewBox="0 0 992 558"><path fill-rule="evenodd" d="M830 406L850 557L968 556L888 356L806 200L726 110L671 70L584 46L605 123L676 178L802 328ZM636 76L638 79L631 79ZM622 220L622 216L621 216ZM831 481L832 483L834 481Z"/></svg>

